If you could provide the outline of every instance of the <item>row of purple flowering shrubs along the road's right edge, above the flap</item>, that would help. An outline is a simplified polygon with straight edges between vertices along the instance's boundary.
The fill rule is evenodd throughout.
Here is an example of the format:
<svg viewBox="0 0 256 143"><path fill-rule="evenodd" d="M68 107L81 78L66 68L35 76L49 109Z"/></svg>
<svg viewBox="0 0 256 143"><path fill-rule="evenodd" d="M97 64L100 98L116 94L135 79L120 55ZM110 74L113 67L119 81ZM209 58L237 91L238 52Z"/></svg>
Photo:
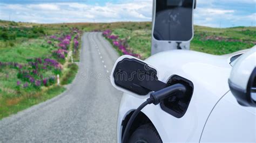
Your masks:
<svg viewBox="0 0 256 143"><path fill-rule="evenodd" d="M109 39L109 40L112 40L113 46L117 47L123 54L135 56L137 58L141 58L141 56L139 54L134 54L131 51L131 49L130 49L129 45L127 44L126 40L118 39L117 35L112 35L111 30L104 31L103 36L105 38Z"/></svg>

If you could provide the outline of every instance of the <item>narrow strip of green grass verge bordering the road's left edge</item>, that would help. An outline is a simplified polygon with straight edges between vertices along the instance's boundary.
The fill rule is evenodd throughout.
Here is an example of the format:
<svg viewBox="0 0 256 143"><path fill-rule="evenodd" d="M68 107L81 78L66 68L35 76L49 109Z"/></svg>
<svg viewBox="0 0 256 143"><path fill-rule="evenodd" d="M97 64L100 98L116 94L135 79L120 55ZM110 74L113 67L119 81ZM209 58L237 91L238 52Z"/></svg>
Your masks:
<svg viewBox="0 0 256 143"><path fill-rule="evenodd" d="M64 87L53 86L49 89L32 92L15 98L5 98L0 96L0 120L4 117L17 113L18 111L29 108L32 105L44 102L65 91Z"/></svg>

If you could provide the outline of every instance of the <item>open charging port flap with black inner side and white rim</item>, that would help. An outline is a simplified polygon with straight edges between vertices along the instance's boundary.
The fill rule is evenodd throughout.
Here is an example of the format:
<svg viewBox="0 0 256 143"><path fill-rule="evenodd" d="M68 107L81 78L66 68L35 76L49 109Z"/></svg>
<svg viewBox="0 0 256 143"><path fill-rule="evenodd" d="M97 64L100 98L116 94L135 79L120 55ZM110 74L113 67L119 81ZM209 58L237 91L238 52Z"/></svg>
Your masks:
<svg viewBox="0 0 256 143"><path fill-rule="evenodd" d="M147 95L151 91L158 91L166 87L166 83L158 81L156 69L144 61L126 56L118 60L112 71L113 74L111 74L112 84L121 91Z"/></svg>

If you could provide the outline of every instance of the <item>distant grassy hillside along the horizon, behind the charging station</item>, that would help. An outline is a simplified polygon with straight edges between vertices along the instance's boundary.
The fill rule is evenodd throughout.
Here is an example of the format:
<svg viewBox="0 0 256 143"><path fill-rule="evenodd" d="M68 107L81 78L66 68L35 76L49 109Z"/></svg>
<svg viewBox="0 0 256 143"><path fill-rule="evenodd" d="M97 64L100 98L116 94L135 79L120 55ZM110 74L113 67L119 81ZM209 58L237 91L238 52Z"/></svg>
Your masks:
<svg viewBox="0 0 256 143"><path fill-rule="evenodd" d="M84 31L111 30L113 35L126 40L133 53L142 59L150 56L151 22L117 22L117 23L70 23L46 24L44 27L79 27ZM256 27L212 28L194 26L194 38L191 49L215 55L228 54L241 49L251 48L256 44ZM118 51L119 53L122 53Z"/></svg>

